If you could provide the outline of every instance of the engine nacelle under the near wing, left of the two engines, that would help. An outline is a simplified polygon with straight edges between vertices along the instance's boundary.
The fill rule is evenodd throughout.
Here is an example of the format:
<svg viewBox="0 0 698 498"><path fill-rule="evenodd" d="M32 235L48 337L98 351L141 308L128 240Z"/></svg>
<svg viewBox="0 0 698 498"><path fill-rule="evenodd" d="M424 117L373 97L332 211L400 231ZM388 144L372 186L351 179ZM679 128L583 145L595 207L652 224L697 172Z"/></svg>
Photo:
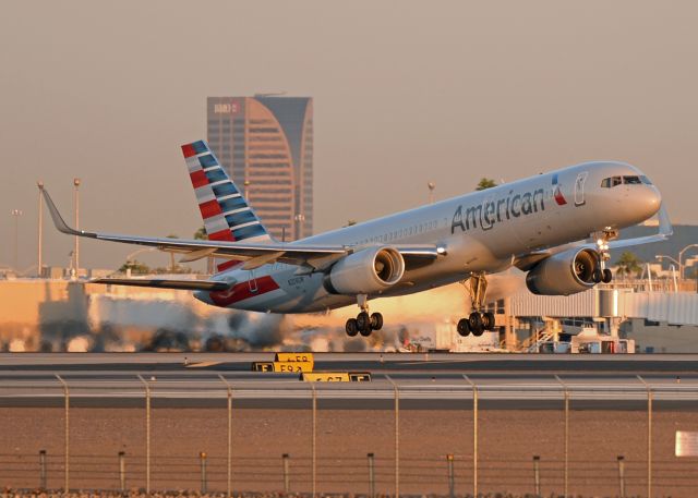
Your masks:
<svg viewBox="0 0 698 498"><path fill-rule="evenodd" d="M372 294L395 286L404 274L405 259L395 247L370 247L337 262L324 284L332 294Z"/></svg>

